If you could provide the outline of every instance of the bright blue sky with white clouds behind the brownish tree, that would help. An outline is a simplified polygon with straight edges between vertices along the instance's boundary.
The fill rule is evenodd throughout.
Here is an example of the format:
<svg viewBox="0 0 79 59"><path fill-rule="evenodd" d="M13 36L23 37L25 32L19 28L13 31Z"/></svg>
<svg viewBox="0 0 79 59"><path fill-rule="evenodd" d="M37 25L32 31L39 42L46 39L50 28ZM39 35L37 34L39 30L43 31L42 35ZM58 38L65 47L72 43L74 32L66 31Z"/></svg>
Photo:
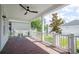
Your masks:
<svg viewBox="0 0 79 59"><path fill-rule="evenodd" d="M79 20L79 5L68 5L64 8L61 8L57 11L58 16L64 20L65 23L68 23L73 20ZM55 13L54 12L54 13ZM45 16L45 22L47 24L50 23L50 20L52 18L52 13Z"/></svg>

